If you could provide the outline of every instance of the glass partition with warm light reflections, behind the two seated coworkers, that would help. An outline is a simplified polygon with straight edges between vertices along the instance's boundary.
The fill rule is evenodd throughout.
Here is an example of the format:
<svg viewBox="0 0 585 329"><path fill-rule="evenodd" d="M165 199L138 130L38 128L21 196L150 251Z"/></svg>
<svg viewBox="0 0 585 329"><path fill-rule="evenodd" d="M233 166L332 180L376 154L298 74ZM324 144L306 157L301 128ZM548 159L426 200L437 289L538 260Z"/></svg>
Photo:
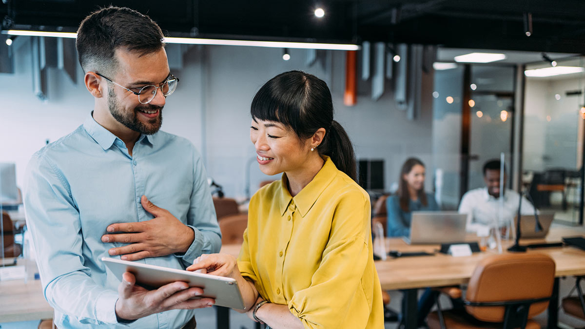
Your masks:
<svg viewBox="0 0 585 329"><path fill-rule="evenodd" d="M435 194L456 209L466 191L484 187L483 165L500 159L510 173L515 67L457 64L435 71L433 164ZM512 175L508 174L508 186Z"/></svg>

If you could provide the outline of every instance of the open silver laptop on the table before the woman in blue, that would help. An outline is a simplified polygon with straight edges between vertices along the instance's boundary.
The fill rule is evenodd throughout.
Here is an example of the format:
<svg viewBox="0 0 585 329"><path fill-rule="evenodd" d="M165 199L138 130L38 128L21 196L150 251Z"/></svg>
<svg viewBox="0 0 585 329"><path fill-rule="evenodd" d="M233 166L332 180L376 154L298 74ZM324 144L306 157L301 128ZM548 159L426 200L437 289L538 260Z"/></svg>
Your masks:
<svg viewBox="0 0 585 329"><path fill-rule="evenodd" d="M467 214L457 211L412 211L407 244L446 244L465 241Z"/></svg>

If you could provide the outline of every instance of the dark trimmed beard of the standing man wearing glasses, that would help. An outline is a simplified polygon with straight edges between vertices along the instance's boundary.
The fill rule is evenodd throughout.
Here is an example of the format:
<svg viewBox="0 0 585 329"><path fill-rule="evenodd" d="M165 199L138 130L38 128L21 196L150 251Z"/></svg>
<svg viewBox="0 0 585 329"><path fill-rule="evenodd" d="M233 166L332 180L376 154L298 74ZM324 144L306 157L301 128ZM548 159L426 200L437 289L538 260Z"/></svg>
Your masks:
<svg viewBox="0 0 585 329"><path fill-rule="evenodd" d="M130 128L133 131L142 133L144 135L153 135L159 131L160 126L163 124L163 107L159 107L151 104L142 104L134 108L131 113L125 113L119 106L118 100L116 99L116 93L113 88L108 88L108 107L113 118L120 122L126 128ZM159 115L156 118L150 119L148 124L144 124L138 119L138 109L147 111L159 110Z"/></svg>

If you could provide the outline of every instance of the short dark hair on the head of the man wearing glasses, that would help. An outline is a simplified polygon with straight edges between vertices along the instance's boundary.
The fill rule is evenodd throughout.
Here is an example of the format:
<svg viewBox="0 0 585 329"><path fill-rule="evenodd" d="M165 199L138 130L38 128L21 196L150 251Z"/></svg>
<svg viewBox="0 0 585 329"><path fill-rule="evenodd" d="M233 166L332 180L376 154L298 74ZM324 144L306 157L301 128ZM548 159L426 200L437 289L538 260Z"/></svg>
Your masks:
<svg viewBox="0 0 585 329"><path fill-rule="evenodd" d="M140 56L164 47L164 35L149 18L129 8L109 6L91 13L77 30L77 53L85 72L111 73L117 66L115 51L125 48Z"/></svg>

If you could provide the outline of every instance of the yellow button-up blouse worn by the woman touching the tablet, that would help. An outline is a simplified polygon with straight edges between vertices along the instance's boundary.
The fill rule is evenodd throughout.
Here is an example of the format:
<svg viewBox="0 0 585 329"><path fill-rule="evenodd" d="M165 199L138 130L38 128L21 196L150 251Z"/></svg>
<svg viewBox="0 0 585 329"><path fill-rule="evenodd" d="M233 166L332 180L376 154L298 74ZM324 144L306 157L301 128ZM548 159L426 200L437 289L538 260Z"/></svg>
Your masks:
<svg viewBox="0 0 585 329"><path fill-rule="evenodd" d="M287 177L250 200L238 267L305 328L384 328L370 198L329 157L295 197Z"/></svg>

